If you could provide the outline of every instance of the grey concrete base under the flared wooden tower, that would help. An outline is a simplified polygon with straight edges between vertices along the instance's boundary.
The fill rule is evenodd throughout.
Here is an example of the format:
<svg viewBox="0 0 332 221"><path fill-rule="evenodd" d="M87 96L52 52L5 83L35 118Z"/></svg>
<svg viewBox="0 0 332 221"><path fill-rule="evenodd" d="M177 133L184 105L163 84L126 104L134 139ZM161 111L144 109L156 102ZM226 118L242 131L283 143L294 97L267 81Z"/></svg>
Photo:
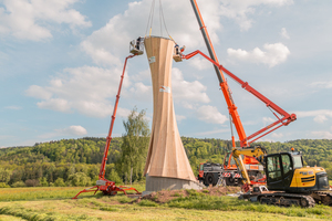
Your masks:
<svg viewBox="0 0 332 221"><path fill-rule="evenodd" d="M154 192L160 190L180 190L180 189L195 189L200 190L205 188L204 185L191 181L175 179L168 177L151 177L146 175L145 192Z"/></svg>

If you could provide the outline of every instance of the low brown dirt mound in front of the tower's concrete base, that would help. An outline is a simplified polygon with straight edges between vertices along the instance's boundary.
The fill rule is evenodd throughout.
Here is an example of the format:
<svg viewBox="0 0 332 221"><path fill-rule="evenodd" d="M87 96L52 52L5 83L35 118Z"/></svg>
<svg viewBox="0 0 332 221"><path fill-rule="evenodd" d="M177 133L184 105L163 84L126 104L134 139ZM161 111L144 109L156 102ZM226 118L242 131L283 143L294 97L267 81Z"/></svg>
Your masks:
<svg viewBox="0 0 332 221"><path fill-rule="evenodd" d="M241 190L240 187L209 187L207 189L203 190L162 190L158 192L152 192L151 194L146 194L142 198L139 198L137 201L141 201L142 199L145 200L152 200L157 203L165 203L173 199L179 198L179 197L188 197L189 194L193 194L193 191L196 193L203 193L206 196L216 196L221 197L230 193L237 193Z"/></svg>

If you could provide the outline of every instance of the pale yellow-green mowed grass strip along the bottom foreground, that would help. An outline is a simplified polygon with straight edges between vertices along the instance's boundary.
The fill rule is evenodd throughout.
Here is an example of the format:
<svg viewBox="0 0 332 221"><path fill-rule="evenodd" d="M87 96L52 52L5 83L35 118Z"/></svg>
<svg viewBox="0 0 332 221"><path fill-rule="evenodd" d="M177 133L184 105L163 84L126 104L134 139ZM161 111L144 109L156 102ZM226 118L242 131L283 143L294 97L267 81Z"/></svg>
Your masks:
<svg viewBox="0 0 332 221"><path fill-rule="evenodd" d="M236 199L235 199L236 200ZM266 206L267 207L267 206ZM169 208L167 206L114 204L104 198L81 200L42 200L0 202L0 213L24 220L246 220L246 221L317 221L323 217L297 217L291 214Z"/></svg>

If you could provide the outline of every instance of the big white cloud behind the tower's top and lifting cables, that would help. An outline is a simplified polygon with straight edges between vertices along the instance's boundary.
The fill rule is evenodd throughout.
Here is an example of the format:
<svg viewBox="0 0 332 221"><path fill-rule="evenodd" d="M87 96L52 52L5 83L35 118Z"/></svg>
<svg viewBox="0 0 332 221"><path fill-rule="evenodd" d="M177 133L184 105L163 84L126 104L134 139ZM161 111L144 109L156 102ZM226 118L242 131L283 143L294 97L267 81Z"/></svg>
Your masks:
<svg viewBox="0 0 332 221"><path fill-rule="evenodd" d="M240 24L241 29L248 30L252 20L247 14L252 14L256 7L270 6L282 7L292 3L292 0L209 0L198 1L205 23L208 27L209 35L215 44L219 39L217 32L222 29L221 17L227 17ZM168 36L164 29L160 33L158 12L158 2L155 8L155 18L152 29L152 35ZM193 38L199 33L193 8L189 1L164 0L163 10L167 30L172 38L181 44L187 45L187 50L196 50L205 46L200 38ZM151 0L134 1L128 3L124 13L114 15L107 24L97 31L94 31L85 41L81 43L82 50L89 54L98 65L118 65L118 57L127 55L128 44L134 38L144 36L146 32L147 14L151 11ZM198 60L197 60L198 61ZM205 69L205 62L191 63L198 69Z"/></svg>

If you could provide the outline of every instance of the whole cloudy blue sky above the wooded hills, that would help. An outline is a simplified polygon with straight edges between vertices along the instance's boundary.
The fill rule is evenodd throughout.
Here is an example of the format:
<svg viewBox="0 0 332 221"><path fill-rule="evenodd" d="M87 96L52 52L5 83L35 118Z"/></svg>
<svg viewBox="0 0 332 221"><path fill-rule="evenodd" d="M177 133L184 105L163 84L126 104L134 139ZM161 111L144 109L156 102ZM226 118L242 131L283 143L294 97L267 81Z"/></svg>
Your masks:
<svg viewBox="0 0 332 221"><path fill-rule="evenodd" d="M148 35L153 0L0 0L0 148L105 137L129 42ZM155 1L152 34L207 53L189 0ZM218 60L298 119L260 140L332 139L332 2L197 0ZM163 23L163 22L162 22ZM179 134L230 139L210 63L173 63ZM277 120L227 77L246 134ZM153 119L146 54L128 60L113 137L137 107Z"/></svg>

